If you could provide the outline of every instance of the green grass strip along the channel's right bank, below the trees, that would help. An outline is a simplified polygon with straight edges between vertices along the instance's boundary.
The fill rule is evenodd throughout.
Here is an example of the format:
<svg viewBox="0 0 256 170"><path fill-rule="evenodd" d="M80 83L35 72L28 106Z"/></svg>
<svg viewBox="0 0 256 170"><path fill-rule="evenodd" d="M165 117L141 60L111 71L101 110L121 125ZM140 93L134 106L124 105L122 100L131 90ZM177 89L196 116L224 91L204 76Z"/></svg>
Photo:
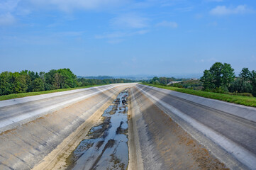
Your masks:
<svg viewBox="0 0 256 170"><path fill-rule="evenodd" d="M251 106L256 107L256 98L255 97L247 97L247 96L234 96L230 94L217 94L213 92L207 92L207 91L196 91L191 89L182 89L178 87L172 87L172 86L161 86L161 85L154 85L154 84L145 84L148 86L155 86L162 89L168 89L172 91L179 91L185 94L192 94L195 96L201 96L205 98L212 98L219 101L227 101L230 103L240 104L244 106Z"/></svg>

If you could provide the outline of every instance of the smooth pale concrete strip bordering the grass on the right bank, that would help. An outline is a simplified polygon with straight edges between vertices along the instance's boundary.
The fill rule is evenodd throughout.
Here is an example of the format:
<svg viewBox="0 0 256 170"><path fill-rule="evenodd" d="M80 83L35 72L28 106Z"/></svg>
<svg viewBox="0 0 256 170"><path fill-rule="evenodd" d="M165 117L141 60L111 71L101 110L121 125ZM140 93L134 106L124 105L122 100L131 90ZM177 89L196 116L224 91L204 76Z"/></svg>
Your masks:
<svg viewBox="0 0 256 170"><path fill-rule="evenodd" d="M165 94L170 94L172 96L177 96L179 98L184 98L187 101L191 101L194 103L198 103L200 105L217 109L219 111L223 111L226 113L229 113L231 115L239 116L240 118L245 118L247 120L251 120L253 122L256 122L256 108L242 106L234 103L228 103L225 101L218 101L211 98L203 98L200 96L194 96L190 94L183 94L179 93L177 91L170 91L167 89L160 89L152 86L145 86L142 84L138 84L140 87L147 87L149 89L154 89L156 91L160 91Z"/></svg>

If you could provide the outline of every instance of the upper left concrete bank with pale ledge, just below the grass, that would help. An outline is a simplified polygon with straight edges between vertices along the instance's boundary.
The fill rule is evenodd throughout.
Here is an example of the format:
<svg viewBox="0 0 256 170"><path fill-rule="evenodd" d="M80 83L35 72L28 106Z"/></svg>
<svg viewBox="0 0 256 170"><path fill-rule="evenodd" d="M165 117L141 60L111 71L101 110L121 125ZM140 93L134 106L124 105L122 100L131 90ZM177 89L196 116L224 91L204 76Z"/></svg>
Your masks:
<svg viewBox="0 0 256 170"><path fill-rule="evenodd" d="M42 115L67 107L121 84L0 101L0 132L11 130Z"/></svg>

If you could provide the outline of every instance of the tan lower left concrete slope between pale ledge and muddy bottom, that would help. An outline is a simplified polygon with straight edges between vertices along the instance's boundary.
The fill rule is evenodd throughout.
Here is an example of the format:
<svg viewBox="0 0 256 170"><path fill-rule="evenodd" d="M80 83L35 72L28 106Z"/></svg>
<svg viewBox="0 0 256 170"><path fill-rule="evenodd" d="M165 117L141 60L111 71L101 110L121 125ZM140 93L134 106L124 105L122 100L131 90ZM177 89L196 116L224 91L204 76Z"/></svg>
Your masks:
<svg viewBox="0 0 256 170"><path fill-rule="evenodd" d="M0 169L32 169L123 88L125 86L108 89L18 128L2 132Z"/></svg>

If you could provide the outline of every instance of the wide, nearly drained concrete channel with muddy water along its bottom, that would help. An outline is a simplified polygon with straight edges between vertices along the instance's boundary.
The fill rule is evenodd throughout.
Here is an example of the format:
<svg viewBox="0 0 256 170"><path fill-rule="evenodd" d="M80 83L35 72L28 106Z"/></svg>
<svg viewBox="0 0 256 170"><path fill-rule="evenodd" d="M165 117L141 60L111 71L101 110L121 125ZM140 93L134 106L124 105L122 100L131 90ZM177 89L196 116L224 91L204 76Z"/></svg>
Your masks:
<svg viewBox="0 0 256 170"><path fill-rule="evenodd" d="M0 169L255 169L255 115L140 84L0 102Z"/></svg>

